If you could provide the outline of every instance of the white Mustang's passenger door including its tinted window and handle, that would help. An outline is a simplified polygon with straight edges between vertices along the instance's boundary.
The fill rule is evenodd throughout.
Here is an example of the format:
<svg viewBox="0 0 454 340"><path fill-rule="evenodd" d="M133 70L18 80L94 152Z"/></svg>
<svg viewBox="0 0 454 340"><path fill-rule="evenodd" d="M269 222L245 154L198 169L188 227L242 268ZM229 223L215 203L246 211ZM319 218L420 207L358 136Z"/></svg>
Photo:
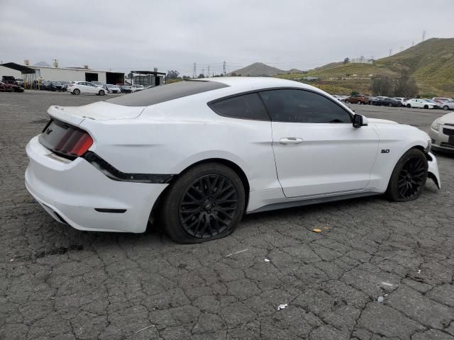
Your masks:
<svg viewBox="0 0 454 340"><path fill-rule="evenodd" d="M304 89L260 91L272 119L277 176L287 198L366 188L378 152L369 126L328 96Z"/></svg>

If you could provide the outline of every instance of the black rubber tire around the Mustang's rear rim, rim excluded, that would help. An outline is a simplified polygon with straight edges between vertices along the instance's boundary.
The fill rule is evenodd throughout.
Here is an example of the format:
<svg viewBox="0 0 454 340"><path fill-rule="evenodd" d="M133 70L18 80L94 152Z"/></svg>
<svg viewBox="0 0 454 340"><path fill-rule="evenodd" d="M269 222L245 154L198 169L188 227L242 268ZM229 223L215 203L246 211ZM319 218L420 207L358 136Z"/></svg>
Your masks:
<svg viewBox="0 0 454 340"><path fill-rule="evenodd" d="M231 225L229 225L226 230L221 232L221 234L218 234L215 237L199 239L192 237L184 231L179 221L179 202L182 198L182 194L186 191L188 186L190 186L201 176L209 174L219 174L225 176L233 183L234 186L236 186L236 190L238 191L238 212L233 218ZM243 183L236 172L228 166L218 163L200 164L194 166L188 171L185 171L174 183L170 184L170 187L167 188L167 192L162 200L160 210L160 220L162 221L165 232L175 242L192 244L220 239L222 237L226 237L228 234L231 234L236 228L236 225L238 225L238 222L240 222L241 217L243 217L243 212L245 210L245 191Z"/></svg>

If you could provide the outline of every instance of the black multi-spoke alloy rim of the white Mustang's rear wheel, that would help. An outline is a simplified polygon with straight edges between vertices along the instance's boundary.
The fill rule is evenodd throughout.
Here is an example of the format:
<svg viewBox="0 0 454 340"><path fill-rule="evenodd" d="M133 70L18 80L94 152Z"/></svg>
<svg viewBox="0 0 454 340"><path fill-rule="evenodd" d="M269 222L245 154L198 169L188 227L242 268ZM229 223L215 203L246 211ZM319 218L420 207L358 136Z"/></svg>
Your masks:
<svg viewBox="0 0 454 340"><path fill-rule="evenodd" d="M238 210L238 191L218 174L196 179L179 202L179 222L187 234L204 239L226 230Z"/></svg>

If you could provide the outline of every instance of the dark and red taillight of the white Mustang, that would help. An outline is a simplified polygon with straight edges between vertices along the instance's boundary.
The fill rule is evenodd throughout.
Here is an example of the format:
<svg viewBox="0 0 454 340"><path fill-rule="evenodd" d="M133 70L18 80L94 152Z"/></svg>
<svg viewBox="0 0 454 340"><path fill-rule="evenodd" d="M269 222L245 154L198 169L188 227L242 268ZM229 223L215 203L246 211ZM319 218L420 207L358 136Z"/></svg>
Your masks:
<svg viewBox="0 0 454 340"><path fill-rule="evenodd" d="M42 145L68 159L81 157L93 145L87 131L52 120L39 137Z"/></svg>

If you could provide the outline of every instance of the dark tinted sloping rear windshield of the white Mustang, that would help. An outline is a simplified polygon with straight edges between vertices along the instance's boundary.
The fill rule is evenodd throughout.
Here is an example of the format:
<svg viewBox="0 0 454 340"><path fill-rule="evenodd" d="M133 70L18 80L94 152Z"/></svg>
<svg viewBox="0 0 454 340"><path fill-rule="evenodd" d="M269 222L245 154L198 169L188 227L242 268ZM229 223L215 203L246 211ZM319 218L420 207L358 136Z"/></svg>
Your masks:
<svg viewBox="0 0 454 340"><path fill-rule="evenodd" d="M130 86L131 87L131 86ZM151 89L127 94L125 96L109 99L107 102L123 106L150 106L164 101L201 94L202 92L212 91L228 87L226 84L217 81L179 81L177 83L155 86Z"/></svg>

